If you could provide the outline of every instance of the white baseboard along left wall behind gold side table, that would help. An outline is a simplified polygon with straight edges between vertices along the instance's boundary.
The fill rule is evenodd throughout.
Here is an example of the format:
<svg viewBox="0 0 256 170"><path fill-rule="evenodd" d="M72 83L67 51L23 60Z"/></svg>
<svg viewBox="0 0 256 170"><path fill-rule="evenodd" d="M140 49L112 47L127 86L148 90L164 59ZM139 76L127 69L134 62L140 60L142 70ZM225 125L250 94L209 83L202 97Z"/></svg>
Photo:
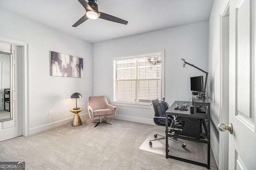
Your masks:
<svg viewBox="0 0 256 170"><path fill-rule="evenodd" d="M89 117L89 114L88 113L85 113L85 114L82 114L82 115L79 115L81 119L86 119ZM54 127L59 127L59 126L62 126L62 125L66 125L68 123L71 123L73 120L73 117L70 117L68 119L63 119L63 120L60 120L60 121L56 121L54 123L48 123L46 125L42 125L42 126L39 126L39 127L34 127L34 128L30 128L29 129L29 135L31 134L36 134L38 132L42 132L44 130L49 130L51 128L54 128ZM54 127L53 127L54 125Z"/></svg>

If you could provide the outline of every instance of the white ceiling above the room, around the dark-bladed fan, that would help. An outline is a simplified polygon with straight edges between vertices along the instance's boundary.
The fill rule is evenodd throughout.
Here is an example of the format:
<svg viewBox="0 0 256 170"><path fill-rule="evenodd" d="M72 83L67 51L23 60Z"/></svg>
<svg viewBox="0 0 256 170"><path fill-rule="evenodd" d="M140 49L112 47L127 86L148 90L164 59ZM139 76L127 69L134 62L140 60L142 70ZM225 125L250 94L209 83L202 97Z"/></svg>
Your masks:
<svg viewBox="0 0 256 170"><path fill-rule="evenodd" d="M88 2L88 0L86 0ZM209 20L213 0L98 0L98 10L128 21L87 20L78 0L0 0L0 8L46 26L98 43Z"/></svg>

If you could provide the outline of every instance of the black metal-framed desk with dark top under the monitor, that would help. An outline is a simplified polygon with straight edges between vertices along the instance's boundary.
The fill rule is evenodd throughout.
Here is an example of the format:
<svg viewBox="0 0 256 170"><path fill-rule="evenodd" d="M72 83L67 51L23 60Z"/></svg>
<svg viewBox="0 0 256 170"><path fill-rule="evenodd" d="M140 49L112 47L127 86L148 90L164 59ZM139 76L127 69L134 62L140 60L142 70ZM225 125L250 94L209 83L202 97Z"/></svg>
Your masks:
<svg viewBox="0 0 256 170"><path fill-rule="evenodd" d="M166 158L173 158L173 159L176 159L176 160L181 160L181 161L184 161L184 162L188 162L188 163L192 163L192 164L196 164L196 165L200 165L200 166L205 166L207 167L208 169L210 169L210 114L207 114L207 115L194 115L194 111L192 111L192 113L190 113L190 107L188 107L188 111L181 111L181 110L175 110L174 107L176 107L176 104L177 103L180 103L182 101L175 101L170 107L169 109L166 111L166 130L165 130L165 133L166 133ZM193 106L192 105L192 102L189 102L188 103L191 107ZM207 123L207 127L206 127L206 123L205 121L203 121L203 125L204 125L204 129L205 129L205 132L206 132L206 136L207 136L207 139L204 140L204 139L196 139L196 138L191 138L191 137L187 137L187 136L174 136L173 134L169 134L168 133L168 116L178 116L178 117L188 117L188 118L196 118L196 119L207 119L208 120L208 123ZM185 125L186 125L186 122L185 122ZM179 158L179 157L176 157L176 156L171 156L168 154L168 137L175 137L175 138L182 138L182 139L185 139L185 140L192 140L192 141L195 141L195 142L201 142L201 143L206 143L207 144L207 164L204 164L204 163L201 163L201 162L195 162L195 161L192 161L192 160L187 160L187 159L184 159L184 158ZM171 147L170 147L170 150L171 150Z"/></svg>

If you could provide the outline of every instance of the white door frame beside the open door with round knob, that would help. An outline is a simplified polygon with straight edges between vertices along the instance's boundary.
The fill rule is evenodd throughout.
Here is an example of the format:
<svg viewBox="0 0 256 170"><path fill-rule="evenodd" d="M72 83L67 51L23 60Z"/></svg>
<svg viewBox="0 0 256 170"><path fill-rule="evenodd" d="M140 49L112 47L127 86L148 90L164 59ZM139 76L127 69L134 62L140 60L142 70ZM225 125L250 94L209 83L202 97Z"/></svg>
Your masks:
<svg viewBox="0 0 256 170"><path fill-rule="evenodd" d="M229 122L229 80L228 85L226 84L225 77L226 74L229 75L229 61L226 61L225 54L228 50L229 55L229 47L225 44L225 38L223 30L224 30L224 22L226 19L224 17L229 15L229 1L225 0L222 9L220 10L220 117L219 123L226 123L228 125ZM229 30L228 30L229 34ZM229 39L228 39L229 42ZM228 48L228 49L227 49ZM228 56L229 57L229 56ZM228 169L228 152L229 152L229 135L228 133L219 133L219 169L225 170Z"/></svg>

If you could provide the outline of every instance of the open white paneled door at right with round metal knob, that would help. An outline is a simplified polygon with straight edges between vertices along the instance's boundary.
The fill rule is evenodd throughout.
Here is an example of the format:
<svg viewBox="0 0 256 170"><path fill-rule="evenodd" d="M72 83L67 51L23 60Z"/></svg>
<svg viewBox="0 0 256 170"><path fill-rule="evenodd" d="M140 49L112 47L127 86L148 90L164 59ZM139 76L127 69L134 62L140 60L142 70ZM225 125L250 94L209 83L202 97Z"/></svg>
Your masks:
<svg viewBox="0 0 256 170"><path fill-rule="evenodd" d="M230 0L230 170L256 170L255 33L255 1Z"/></svg>

